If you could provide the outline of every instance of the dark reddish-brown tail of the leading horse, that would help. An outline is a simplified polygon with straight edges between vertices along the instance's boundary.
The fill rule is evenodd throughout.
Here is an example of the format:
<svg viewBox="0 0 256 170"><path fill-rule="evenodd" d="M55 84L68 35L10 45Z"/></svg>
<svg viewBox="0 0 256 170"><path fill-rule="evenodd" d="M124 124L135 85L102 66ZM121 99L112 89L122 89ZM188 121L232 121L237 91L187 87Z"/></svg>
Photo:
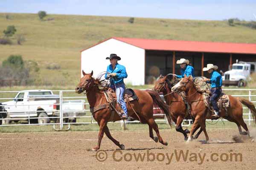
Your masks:
<svg viewBox="0 0 256 170"><path fill-rule="evenodd" d="M146 90L146 92L148 92L148 94L152 97L154 105L157 105L165 113L169 125L172 126L172 119L170 117L169 106L166 105L165 102L163 102L163 100L156 91Z"/></svg>

